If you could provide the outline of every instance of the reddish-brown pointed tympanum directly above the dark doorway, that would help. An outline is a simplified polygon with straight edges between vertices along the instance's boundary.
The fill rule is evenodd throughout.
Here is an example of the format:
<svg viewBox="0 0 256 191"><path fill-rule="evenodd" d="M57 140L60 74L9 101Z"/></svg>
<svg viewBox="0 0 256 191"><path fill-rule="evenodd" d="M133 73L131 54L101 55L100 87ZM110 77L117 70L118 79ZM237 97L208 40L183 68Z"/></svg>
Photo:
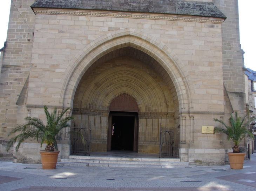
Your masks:
<svg viewBox="0 0 256 191"><path fill-rule="evenodd" d="M139 107L134 98L127 94L121 94L110 103L109 111L139 112Z"/></svg>

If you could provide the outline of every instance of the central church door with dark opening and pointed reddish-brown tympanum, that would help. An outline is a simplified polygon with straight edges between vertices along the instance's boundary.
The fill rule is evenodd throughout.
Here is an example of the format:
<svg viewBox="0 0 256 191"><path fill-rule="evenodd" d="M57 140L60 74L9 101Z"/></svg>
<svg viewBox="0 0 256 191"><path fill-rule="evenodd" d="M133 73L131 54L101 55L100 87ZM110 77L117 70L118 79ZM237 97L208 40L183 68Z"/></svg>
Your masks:
<svg viewBox="0 0 256 191"><path fill-rule="evenodd" d="M109 106L107 150L138 151L138 113L136 100L121 94Z"/></svg>

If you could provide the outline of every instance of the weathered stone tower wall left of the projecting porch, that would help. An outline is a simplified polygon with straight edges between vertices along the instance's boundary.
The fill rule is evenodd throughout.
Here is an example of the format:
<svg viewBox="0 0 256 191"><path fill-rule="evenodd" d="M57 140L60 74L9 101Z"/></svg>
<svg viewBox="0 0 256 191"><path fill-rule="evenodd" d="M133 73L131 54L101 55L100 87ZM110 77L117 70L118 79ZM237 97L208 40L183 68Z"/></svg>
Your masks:
<svg viewBox="0 0 256 191"><path fill-rule="evenodd" d="M0 139L26 116L26 102L16 102L29 76L35 14L30 6L35 0L14 0L11 3L7 39L1 55L0 78ZM25 113L19 113L18 107ZM5 153L1 149L1 153Z"/></svg>

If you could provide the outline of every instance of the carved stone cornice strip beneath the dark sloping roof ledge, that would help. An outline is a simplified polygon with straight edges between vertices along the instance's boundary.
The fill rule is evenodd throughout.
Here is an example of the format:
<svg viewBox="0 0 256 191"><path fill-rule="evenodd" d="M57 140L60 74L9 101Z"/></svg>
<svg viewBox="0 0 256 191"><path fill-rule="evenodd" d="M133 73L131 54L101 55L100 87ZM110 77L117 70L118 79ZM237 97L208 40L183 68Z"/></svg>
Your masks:
<svg viewBox="0 0 256 191"><path fill-rule="evenodd" d="M172 15L159 13L120 13L108 11L92 11L92 10L74 10L74 9L45 9L34 8L34 13L46 15L77 15L77 16L100 16L100 17L118 17L118 18L132 18L132 19L155 19L155 20L169 20L169 21L189 21L202 23L218 23L222 24L224 19L214 17L200 17L192 15Z"/></svg>

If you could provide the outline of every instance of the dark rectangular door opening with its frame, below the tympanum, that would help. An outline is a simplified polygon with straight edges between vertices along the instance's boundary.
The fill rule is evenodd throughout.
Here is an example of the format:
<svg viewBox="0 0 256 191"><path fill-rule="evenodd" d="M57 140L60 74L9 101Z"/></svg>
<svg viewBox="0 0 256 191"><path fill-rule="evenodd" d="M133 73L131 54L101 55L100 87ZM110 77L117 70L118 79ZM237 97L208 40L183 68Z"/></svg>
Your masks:
<svg viewBox="0 0 256 191"><path fill-rule="evenodd" d="M110 111L107 150L138 151L137 112Z"/></svg>

